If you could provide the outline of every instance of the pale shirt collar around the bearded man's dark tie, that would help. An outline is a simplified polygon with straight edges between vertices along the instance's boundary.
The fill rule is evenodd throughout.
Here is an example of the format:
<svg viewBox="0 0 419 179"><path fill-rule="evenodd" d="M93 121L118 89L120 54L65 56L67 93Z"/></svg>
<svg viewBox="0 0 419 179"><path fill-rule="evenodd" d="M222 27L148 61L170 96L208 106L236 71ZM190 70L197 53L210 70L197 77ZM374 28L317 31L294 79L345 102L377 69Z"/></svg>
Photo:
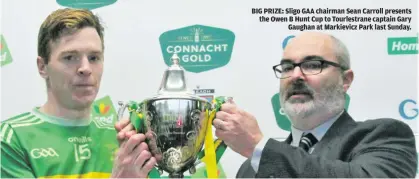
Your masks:
<svg viewBox="0 0 419 179"><path fill-rule="evenodd" d="M323 138L323 136L326 134L327 130L329 130L332 124L342 115L343 112L344 111L340 112L335 117L327 120L326 122L324 122L323 124L321 124L320 126L317 126L316 128L312 130L303 131L303 130L294 128L294 126L291 126L292 144L298 146L301 136L305 133L312 133L314 137L316 137L316 139L320 141Z"/></svg>

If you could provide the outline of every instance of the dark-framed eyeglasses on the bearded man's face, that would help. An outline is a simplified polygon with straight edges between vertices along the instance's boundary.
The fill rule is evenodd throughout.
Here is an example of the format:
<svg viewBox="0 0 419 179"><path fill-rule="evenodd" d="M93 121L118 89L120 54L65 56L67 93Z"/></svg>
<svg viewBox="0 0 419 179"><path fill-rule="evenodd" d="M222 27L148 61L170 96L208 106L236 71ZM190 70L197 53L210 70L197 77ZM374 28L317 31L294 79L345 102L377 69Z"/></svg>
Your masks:
<svg viewBox="0 0 419 179"><path fill-rule="evenodd" d="M341 68L345 70L341 65L323 60L318 56L309 56L300 63L292 63L290 60L283 60L280 64L273 66L275 76L280 79L288 78L294 73L295 67L300 67L301 72L304 75L317 75L323 71L328 65Z"/></svg>

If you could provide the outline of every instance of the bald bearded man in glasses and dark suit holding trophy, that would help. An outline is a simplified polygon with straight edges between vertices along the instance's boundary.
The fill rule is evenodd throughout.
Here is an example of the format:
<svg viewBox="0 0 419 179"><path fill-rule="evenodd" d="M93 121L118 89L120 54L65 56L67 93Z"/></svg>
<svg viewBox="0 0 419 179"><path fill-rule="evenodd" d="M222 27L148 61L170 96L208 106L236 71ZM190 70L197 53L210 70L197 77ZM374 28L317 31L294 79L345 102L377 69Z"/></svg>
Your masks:
<svg viewBox="0 0 419 179"><path fill-rule="evenodd" d="M285 141L264 137L256 118L234 103L224 104L214 120L216 136L248 158L237 178L415 177L415 137L408 125L388 118L355 122L345 111L354 75L340 40L302 33L273 69L292 123Z"/></svg>

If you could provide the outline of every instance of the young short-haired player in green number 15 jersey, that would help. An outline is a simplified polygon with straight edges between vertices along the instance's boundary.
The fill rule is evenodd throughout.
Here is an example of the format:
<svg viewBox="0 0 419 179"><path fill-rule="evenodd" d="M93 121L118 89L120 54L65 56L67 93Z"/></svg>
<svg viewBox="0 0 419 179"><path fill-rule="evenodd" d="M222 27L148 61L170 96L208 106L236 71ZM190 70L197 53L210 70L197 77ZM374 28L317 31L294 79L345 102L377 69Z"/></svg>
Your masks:
<svg viewBox="0 0 419 179"><path fill-rule="evenodd" d="M37 66L47 101L1 123L2 178L146 178L156 164L143 134L119 141L91 118L104 64L103 27L89 10L60 9L42 23Z"/></svg>

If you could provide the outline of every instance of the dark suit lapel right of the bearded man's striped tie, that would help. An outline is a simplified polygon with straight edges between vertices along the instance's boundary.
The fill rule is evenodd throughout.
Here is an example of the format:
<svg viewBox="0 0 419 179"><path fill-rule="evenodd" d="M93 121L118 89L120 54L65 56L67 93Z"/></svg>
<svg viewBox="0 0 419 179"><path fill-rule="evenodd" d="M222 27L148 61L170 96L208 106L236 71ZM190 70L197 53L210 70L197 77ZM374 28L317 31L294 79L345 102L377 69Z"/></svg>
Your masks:
<svg viewBox="0 0 419 179"><path fill-rule="evenodd" d="M332 147L333 140L339 140L340 137L338 136L346 134L352 128L351 126L355 124L355 121L345 110L335 123L330 126L323 138L314 146L312 154L327 152Z"/></svg>

